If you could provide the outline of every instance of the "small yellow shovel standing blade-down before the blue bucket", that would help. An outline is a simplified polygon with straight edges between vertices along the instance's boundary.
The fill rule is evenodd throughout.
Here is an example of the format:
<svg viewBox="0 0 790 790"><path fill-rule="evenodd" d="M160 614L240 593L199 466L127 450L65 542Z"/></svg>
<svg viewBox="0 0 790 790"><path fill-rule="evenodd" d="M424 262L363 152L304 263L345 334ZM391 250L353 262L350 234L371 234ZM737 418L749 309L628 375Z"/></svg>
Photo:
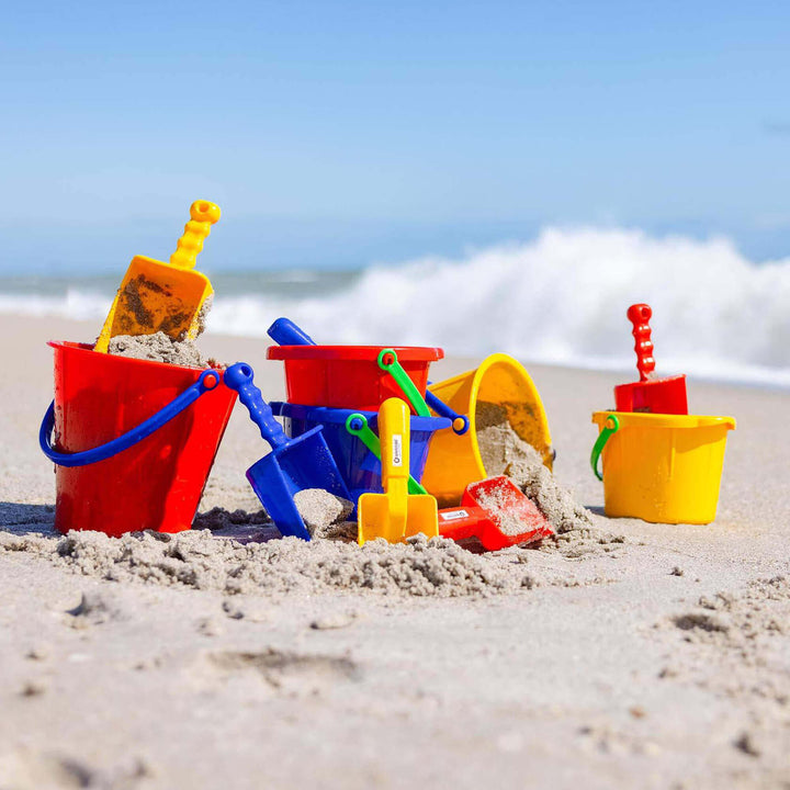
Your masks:
<svg viewBox="0 0 790 790"><path fill-rule="evenodd" d="M408 493L410 416L400 398L388 398L379 409L384 494L363 494L359 498L360 545L375 538L398 543L418 532L429 538L439 534L436 499L430 494Z"/></svg>

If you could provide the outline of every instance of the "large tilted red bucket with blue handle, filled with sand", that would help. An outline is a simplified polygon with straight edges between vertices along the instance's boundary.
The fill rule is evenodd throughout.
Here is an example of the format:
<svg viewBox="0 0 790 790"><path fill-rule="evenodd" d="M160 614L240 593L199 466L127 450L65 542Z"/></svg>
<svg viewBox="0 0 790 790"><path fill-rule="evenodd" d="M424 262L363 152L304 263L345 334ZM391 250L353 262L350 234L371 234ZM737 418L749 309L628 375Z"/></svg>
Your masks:
<svg viewBox="0 0 790 790"><path fill-rule="evenodd" d="M49 346L55 349L54 444L60 453L88 451L133 431L204 373L98 353L82 343ZM133 447L88 465L58 465L55 528L112 537L189 529L235 400L236 392L219 383Z"/></svg>

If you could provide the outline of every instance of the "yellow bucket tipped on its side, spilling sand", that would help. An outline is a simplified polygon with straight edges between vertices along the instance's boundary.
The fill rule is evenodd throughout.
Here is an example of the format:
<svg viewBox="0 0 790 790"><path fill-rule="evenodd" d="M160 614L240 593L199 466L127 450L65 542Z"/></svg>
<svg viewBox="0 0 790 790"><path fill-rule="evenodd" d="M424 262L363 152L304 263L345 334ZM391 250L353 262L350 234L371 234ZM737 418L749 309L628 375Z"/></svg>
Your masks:
<svg viewBox="0 0 790 790"><path fill-rule="evenodd" d="M551 469L554 451L543 403L530 374L512 357L492 354L475 370L437 382L429 390L453 411L467 415L470 420L465 433L459 436L447 428L437 431L431 441L422 485L442 506L456 505L470 483L490 476L477 443L478 404L501 407L516 433L535 448L543 463Z"/></svg>

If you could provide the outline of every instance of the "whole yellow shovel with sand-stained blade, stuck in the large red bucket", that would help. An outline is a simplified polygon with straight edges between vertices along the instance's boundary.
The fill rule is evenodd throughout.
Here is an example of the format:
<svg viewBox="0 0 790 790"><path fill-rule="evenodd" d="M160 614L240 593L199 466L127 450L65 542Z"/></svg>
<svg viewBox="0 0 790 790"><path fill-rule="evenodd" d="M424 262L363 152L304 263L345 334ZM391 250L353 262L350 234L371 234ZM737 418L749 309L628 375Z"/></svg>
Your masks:
<svg viewBox="0 0 790 790"><path fill-rule="evenodd" d="M104 327L93 347L106 352L116 335L154 335L163 331L173 340L194 339L202 331L203 304L213 293L205 274L194 271L198 253L219 206L195 201L170 263L135 256L115 294Z"/></svg>

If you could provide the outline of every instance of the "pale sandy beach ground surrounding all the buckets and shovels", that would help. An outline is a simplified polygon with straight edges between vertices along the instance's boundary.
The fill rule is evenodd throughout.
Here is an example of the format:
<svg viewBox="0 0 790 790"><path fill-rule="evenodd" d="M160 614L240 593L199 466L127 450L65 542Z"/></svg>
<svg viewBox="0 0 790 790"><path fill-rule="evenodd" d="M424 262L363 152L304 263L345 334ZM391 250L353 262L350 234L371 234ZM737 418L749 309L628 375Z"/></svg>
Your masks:
<svg viewBox="0 0 790 790"><path fill-rule="evenodd" d="M429 569L394 583L372 560L365 586L321 576L318 541L129 538L108 561L110 539L55 533L46 341L95 327L0 331L0 789L790 787L787 392L690 380L695 414L737 419L719 516L650 524L607 519L589 469L590 414L622 376L524 361L591 527L493 555L404 546ZM201 348L283 398L264 340ZM270 537L244 477L266 449L237 407L201 512Z"/></svg>

